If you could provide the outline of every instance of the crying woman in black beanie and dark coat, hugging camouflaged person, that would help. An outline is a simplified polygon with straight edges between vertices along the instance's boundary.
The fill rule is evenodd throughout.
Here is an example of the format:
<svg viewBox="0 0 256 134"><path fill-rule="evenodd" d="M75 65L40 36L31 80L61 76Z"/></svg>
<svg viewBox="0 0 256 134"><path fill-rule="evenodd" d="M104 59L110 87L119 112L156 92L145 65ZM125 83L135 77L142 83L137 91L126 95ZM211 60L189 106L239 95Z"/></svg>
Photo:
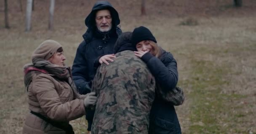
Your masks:
<svg viewBox="0 0 256 134"><path fill-rule="evenodd" d="M132 44L140 57L154 75L156 83L165 93L176 87L178 82L177 63L173 55L157 45L151 31L144 26L135 28ZM172 103L156 95L150 113L149 134L181 134L179 120Z"/></svg>

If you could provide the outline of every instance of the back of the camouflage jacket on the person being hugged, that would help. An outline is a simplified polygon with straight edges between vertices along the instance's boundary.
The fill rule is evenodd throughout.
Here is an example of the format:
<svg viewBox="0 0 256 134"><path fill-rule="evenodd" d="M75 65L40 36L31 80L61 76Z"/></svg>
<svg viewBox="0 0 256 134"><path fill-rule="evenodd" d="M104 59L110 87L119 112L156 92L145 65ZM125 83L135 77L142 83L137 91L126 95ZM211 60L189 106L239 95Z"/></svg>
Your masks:
<svg viewBox="0 0 256 134"><path fill-rule="evenodd" d="M98 68L93 80L98 100L91 134L148 134L155 78L133 51L115 56Z"/></svg>

